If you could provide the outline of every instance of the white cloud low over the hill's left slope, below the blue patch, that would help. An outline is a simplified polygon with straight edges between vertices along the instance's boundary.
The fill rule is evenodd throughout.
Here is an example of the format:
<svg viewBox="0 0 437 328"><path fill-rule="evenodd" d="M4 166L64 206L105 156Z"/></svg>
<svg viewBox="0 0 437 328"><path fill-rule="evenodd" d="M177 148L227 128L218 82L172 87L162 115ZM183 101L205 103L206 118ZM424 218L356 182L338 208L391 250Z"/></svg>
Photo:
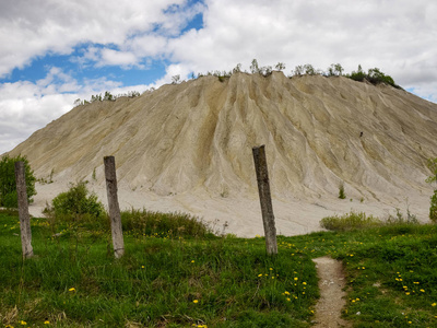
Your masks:
<svg viewBox="0 0 437 328"><path fill-rule="evenodd" d="M34 131L59 118L73 107L76 98L90 99L105 91L114 95L129 91L143 92L149 85L122 86L105 78L76 81L59 68L35 82L20 81L0 84L0 154L12 150ZM69 92L69 93L64 93Z"/></svg>

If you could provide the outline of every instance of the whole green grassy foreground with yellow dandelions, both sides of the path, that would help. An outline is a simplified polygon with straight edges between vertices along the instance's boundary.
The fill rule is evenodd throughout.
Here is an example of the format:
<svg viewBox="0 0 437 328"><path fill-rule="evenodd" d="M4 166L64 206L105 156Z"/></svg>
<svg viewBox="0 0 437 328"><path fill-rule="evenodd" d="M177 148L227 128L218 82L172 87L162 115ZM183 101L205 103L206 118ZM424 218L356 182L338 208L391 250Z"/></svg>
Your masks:
<svg viewBox="0 0 437 328"><path fill-rule="evenodd" d="M36 256L23 262L17 216L0 213L0 325L310 327L311 258L330 255L344 263L343 316L354 327L437 327L435 225L279 236L279 255L268 257L263 238L177 235L158 224L145 233L128 221L126 255L115 260L104 223L32 219Z"/></svg>

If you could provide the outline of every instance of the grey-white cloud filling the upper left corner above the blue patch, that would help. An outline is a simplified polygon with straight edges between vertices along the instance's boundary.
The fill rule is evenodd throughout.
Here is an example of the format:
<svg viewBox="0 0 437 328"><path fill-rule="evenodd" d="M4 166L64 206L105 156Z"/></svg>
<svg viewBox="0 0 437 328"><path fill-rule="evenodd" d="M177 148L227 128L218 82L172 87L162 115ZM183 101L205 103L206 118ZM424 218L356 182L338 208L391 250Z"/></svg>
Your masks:
<svg viewBox="0 0 437 328"><path fill-rule="evenodd" d="M160 25L172 32L174 15L163 11L182 3L184 0L2 1L0 78L37 56L70 54L79 43L122 45L130 35L147 33Z"/></svg>

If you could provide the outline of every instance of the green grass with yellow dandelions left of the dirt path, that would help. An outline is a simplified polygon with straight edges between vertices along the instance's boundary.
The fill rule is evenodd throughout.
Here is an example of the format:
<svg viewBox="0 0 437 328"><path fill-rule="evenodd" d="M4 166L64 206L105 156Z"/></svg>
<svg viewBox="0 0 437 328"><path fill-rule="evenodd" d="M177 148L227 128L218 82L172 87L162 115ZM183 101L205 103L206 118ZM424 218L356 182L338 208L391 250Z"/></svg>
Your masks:
<svg viewBox="0 0 437 328"><path fill-rule="evenodd" d="M115 260L108 232L59 225L55 237L47 220L33 219L36 257L23 262L17 218L0 220L3 325L309 327L318 296L310 257L269 257L262 238L128 234Z"/></svg>

